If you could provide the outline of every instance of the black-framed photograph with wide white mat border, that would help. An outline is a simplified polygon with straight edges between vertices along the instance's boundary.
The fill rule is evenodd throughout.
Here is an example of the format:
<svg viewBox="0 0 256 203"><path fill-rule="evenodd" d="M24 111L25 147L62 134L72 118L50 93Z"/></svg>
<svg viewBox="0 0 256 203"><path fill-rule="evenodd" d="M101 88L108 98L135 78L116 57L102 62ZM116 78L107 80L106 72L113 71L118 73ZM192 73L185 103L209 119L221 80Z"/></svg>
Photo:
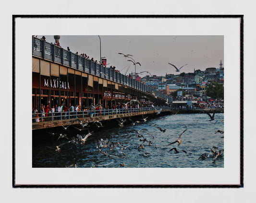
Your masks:
<svg viewBox="0 0 256 203"><path fill-rule="evenodd" d="M12 20L14 188L244 187L243 15Z"/></svg>

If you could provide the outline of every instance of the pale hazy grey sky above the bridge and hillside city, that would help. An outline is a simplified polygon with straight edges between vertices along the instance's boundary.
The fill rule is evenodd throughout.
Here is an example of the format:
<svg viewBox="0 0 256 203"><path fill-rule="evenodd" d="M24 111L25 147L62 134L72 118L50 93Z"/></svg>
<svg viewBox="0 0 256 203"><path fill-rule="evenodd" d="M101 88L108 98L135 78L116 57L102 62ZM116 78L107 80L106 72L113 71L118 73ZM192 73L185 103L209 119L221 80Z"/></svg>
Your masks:
<svg viewBox="0 0 256 203"><path fill-rule="evenodd" d="M38 36L41 38L42 36ZM53 36L45 36L47 42L54 43ZM149 71L152 75L164 76L181 72L194 72L206 68L219 68L224 63L224 36L100 36L101 57L107 58L108 66L115 66L125 74L134 72L134 65L128 58L118 54L133 55L136 72ZM69 47L73 53L86 53L90 59L99 61L100 46L98 36L64 36L60 38L61 47ZM187 64L181 72L175 68ZM141 77L148 75L143 73Z"/></svg>

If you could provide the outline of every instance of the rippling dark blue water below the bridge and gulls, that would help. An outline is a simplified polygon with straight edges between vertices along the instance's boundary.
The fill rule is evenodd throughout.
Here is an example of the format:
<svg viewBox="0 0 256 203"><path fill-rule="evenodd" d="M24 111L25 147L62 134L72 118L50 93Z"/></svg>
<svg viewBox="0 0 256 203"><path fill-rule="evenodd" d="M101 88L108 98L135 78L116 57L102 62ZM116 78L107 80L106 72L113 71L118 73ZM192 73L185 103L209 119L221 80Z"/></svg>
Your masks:
<svg viewBox="0 0 256 203"><path fill-rule="evenodd" d="M209 121L207 114L177 114L160 116L157 118L147 119L146 122L141 121L135 126L127 119L124 127L116 127L110 129L94 129L93 135L88 137L85 144L76 144L73 142L67 143L72 137L77 134L87 134L88 131L78 131L72 126L69 127L69 140L62 138L58 140L58 135L49 135L46 133L45 139L38 138L33 135L32 145L32 166L33 167L224 167L224 155L219 156L215 161L210 156L206 160L198 160L200 155L210 153L210 148L218 147L218 150L224 149L224 134L216 133L217 130L224 131L223 113L216 113L215 120ZM136 120L139 120L137 118ZM197 120L197 121L196 121ZM217 122L216 122L217 121ZM112 123L118 124L116 120ZM167 145L176 141L179 135L186 129L183 125L188 125L181 137L182 143ZM156 126L158 124L161 129L166 129L161 132ZM150 126L151 125L151 126ZM152 141L152 145L145 142L144 149L138 149L142 141L137 137L137 133L141 129L140 135L143 135L147 141ZM89 128L91 131L92 129ZM60 130L59 133L65 133ZM154 136L154 138L151 136ZM122 149L117 144L113 150L110 148L102 149L99 153L97 148L97 140L107 140L113 143L119 142L122 146L128 146ZM60 146L61 152L55 151L56 146ZM178 151L184 150L187 153L174 153L174 150L169 150L176 147ZM122 149L122 150L121 150ZM150 153L145 156L146 153ZM106 155L108 154L108 155ZM121 164L124 163L124 166Z"/></svg>

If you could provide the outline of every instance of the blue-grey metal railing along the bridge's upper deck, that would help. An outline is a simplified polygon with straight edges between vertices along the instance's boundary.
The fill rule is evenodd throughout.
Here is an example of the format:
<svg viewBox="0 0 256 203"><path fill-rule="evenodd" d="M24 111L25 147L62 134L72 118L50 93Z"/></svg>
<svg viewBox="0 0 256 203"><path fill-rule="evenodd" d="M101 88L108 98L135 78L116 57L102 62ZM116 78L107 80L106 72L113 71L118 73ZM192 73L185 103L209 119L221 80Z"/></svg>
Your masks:
<svg viewBox="0 0 256 203"><path fill-rule="evenodd" d="M129 78L127 75L123 75L119 72L111 70L110 68L96 64L94 61L85 59L78 54L74 54L71 51L57 47L54 44L46 42L35 36L32 37L32 55L58 62L80 71L98 75L111 81L130 86L145 93L149 92L151 94L152 91L154 91L158 98L165 100L168 98L170 102L172 100L172 97L163 95L161 92L147 86L146 84L139 83L138 81ZM104 72L105 75L99 75L99 72Z"/></svg>

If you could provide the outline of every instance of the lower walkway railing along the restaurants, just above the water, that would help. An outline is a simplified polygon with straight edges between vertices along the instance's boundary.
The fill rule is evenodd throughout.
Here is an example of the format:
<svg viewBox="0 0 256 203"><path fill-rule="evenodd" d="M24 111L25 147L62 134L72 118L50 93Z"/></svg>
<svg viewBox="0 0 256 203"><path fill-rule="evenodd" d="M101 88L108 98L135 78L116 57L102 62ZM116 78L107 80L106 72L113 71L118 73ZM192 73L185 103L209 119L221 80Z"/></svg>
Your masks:
<svg viewBox="0 0 256 203"><path fill-rule="evenodd" d="M78 118L92 118L97 116L107 116L125 113L156 111L159 109L169 109L171 107L141 107L141 108L115 108L115 109L102 109L102 110L81 110L81 111L67 111L67 112L48 112L48 113L33 113L32 122L42 122L50 120L62 119L78 119ZM157 111L156 111L157 112Z"/></svg>

